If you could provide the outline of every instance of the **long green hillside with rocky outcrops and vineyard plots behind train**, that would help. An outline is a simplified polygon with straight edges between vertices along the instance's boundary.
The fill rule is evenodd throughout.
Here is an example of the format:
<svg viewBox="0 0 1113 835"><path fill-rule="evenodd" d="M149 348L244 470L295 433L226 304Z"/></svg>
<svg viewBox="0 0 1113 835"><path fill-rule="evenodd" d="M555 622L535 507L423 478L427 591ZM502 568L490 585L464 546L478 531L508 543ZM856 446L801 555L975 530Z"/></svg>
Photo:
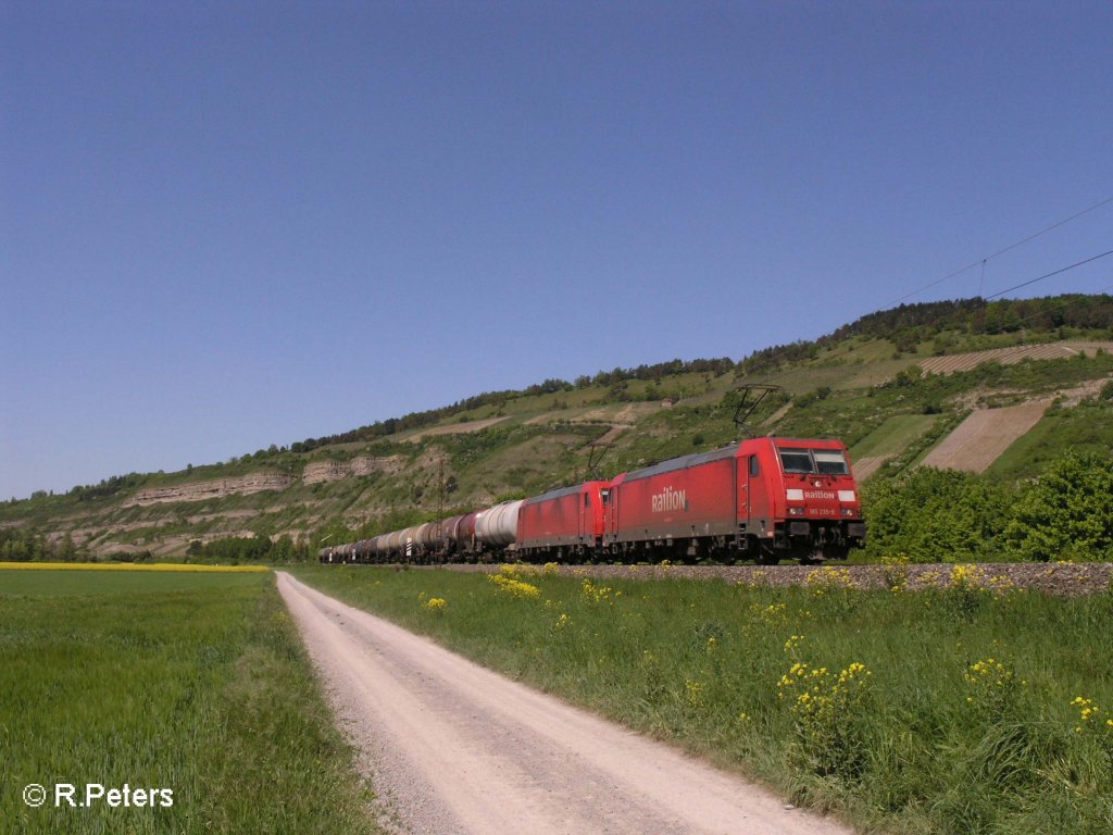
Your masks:
<svg viewBox="0 0 1113 835"><path fill-rule="evenodd" d="M859 478L892 479L926 461L1017 481L1065 449L1107 454L1111 375L1110 296L902 306L739 362L549 380L227 463L6 502L0 558L36 549L177 558L232 537L304 552L535 494L592 468L610 475L722 445L738 436L732 415L746 383L782 387L751 429L841 438ZM966 463L972 445L976 466Z"/></svg>

